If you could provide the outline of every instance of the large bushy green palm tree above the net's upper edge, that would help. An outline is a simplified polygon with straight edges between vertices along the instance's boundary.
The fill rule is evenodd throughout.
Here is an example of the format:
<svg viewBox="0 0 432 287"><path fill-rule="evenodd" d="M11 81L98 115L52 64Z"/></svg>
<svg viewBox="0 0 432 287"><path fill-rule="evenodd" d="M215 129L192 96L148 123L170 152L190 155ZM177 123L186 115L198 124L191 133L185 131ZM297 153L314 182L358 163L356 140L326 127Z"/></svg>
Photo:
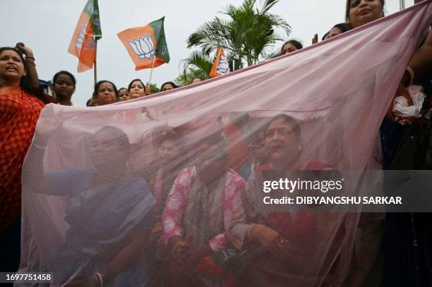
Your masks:
<svg viewBox="0 0 432 287"><path fill-rule="evenodd" d="M229 20L215 17L201 25L188 37L188 48L200 48L203 55L210 56L222 46L228 52L232 70L242 68L244 63L247 66L258 63L268 56L268 48L282 40L276 35L276 28L282 28L286 37L291 32L283 18L269 13L278 1L265 0L258 7L256 0L244 0L239 7L227 6L223 14L229 16Z"/></svg>

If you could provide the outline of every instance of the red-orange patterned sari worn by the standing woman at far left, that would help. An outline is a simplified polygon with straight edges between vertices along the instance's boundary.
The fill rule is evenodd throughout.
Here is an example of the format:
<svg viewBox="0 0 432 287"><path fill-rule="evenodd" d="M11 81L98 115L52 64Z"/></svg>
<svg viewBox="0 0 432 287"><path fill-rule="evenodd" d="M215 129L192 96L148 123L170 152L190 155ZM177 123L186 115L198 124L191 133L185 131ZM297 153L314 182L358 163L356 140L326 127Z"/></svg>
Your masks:
<svg viewBox="0 0 432 287"><path fill-rule="evenodd" d="M20 87L0 87L0 231L21 209L21 169L44 103Z"/></svg>

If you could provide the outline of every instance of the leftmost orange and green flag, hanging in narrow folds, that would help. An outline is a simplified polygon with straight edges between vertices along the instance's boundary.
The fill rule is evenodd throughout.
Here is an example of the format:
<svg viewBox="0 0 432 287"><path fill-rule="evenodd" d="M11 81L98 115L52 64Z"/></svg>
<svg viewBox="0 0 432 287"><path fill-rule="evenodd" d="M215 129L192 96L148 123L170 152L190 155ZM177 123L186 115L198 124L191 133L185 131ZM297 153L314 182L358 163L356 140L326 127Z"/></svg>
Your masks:
<svg viewBox="0 0 432 287"><path fill-rule="evenodd" d="M97 0L88 0L81 13L68 52L78 58L78 73L93 68L96 59L96 38L102 38Z"/></svg>

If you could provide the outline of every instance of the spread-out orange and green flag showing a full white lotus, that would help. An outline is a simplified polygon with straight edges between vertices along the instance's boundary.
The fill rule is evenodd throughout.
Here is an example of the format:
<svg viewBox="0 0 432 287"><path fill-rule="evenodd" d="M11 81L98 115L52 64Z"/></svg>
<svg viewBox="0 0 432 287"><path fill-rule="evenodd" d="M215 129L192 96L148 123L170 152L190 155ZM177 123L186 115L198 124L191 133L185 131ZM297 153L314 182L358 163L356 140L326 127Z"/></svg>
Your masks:
<svg viewBox="0 0 432 287"><path fill-rule="evenodd" d="M117 34L135 63L136 71L169 63L164 18L143 27L126 29ZM155 63L152 63L153 61Z"/></svg>

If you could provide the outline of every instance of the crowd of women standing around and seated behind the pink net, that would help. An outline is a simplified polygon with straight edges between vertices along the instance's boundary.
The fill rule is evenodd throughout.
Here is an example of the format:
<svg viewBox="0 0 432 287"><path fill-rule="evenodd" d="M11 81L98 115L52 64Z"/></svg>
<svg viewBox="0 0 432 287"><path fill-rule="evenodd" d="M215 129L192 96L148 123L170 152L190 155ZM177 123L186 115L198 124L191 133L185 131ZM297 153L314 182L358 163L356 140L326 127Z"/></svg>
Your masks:
<svg viewBox="0 0 432 287"><path fill-rule="evenodd" d="M323 40L383 18L384 4L385 0L347 0L347 22L333 26ZM313 37L316 42L317 36ZM291 39L282 45L281 54L299 49L303 45ZM421 130L430 126L425 116L432 93L431 67L429 32L383 119L382 169L431 169L426 156L412 160L409 147L402 145L413 126ZM191 85L201 81L193 78ZM17 271L20 263L25 155L30 148L26 160L43 166L48 140L59 128L53 118L38 121L40 112L49 103L73 106L73 74L59 71L52 83L54 97L42 92L34 55L24 44L0 48L0 271ZM177 87L169 81L160 92ZM87 106L150 94L150 86L140 79L119 90L111 81L100 80ZM142 146L132 145L120 128L104 126L88 140L91 171L24 172L28 183L23 186L64 196L67 202L66 240L40 271L55 270L59 286L432 284L428 214L387 214L383 219L383 214L260 211L260 183L267 171L331 166L304 159L304 130L291 116L266 118L254 130L248 130L250 121L244 114L225 123L217 121L213 133L192 143L184 140L188 133L184 126L152 130L155 152L151 156ZM148 134L142 142L149 142ZM430 149L431 143L427 144L424 154ZM66 178L71 184L64 186ZM100 210L97 214L95 207ZM107 225L100 224L108 218ZM376 245L366 251L362 239L353 239L352 234L368 224L380 231L368 234L377 240L371 240ZM360 242L354 247L355 256L349 253L353 248L347 242ZM325 250L324 255L317 255L320 250Z"/></svg>

